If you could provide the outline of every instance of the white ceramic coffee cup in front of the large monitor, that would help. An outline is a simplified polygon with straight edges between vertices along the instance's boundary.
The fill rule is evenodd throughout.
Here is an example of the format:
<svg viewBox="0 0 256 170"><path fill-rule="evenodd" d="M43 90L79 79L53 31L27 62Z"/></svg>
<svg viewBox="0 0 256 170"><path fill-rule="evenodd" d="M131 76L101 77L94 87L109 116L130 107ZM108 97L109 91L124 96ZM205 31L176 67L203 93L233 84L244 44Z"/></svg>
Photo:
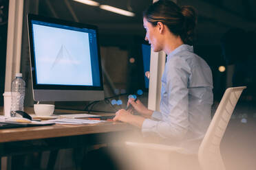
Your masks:
<svg viewBox="0 0 256 170"><path fill-rule="evenodd" d="M36 116L51 116L54 112L54 104L34 104Z"/></svg>

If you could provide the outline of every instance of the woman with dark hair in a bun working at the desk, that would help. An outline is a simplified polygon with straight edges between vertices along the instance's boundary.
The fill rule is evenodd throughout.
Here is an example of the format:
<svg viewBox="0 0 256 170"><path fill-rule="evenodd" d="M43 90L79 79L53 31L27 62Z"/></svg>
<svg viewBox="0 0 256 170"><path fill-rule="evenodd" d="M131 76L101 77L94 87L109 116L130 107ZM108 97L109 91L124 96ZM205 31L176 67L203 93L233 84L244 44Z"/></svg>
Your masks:
<svg viewBox="0 0 256 170"><path fill-rule="evenodd" d="M193 53L195 10L172 1L157 1L144 12L145 40L153 51L167 53L162 75L160 112L147 109L140 100L129 99L140 116L118 110L114 121L136 125L143 134L156 134L162 143L198 151L211 121L213 82L211 69Z"/></svg>

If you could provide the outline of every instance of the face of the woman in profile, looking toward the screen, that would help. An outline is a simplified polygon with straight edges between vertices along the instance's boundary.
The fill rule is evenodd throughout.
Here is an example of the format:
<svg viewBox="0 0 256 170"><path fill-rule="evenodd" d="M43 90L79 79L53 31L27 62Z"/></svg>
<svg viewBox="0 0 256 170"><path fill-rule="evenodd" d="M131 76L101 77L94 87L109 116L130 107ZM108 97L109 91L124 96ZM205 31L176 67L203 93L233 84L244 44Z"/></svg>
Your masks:
<svg viewBox="0 0 256 170"><path fill-rule="evenodd" d="M162 47L160 45L160 40L159 40L158 26L157 25L153 26L145 18L143 18L143 26L146 29L145 40L149 42L149 44L153 48L153 51L155 52L161 51Z"/></svg>

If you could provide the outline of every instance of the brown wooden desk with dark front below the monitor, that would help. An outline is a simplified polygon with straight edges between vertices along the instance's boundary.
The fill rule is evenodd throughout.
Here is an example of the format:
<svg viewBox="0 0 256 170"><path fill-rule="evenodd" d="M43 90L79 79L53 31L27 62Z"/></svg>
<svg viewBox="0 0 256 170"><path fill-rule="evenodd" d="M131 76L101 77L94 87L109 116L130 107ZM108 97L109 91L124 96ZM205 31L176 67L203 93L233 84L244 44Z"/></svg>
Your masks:
<svg viewBox="0 0 256 170"><path fill-rule="evenodd" d="M31 113L31 110L32 108L27 108L25 111ZM70 110L65 110L65 112L70 112ZM72 111L72 113L79 112L81 111ZM56 124L5 129L0 130L0 156L111 143L118 141L118 135L133 130L136 128L127 123L112 121L92 125Z"/></svg>

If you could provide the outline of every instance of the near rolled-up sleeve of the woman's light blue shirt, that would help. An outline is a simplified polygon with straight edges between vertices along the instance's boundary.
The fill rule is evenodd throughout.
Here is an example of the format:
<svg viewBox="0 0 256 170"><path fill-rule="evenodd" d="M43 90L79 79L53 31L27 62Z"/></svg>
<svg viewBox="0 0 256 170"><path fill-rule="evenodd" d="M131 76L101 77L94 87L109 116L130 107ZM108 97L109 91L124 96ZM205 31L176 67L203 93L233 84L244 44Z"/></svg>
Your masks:
<svg viewBox="0 0 256 170"><path fill-rule="evenodd" d="M165 67L160 112L153 112L153 119L145 119L142 132L156 132L162 138L181 140L189 128L190 68L180 57L171 58Z"/></svg>

